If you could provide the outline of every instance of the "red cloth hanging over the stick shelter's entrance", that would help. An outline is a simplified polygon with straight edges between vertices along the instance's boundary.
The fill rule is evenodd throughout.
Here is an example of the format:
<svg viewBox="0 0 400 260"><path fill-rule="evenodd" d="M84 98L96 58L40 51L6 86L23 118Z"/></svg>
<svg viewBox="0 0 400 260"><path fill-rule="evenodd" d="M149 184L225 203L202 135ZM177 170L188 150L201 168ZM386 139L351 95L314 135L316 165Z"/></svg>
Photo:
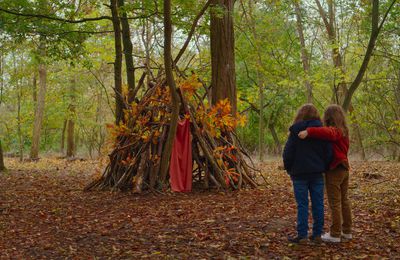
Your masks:
<svg viewBox="0 0 400 260"><path fill-rule="evenodd" d="M178 122L178 129L172 147L169 175L171 189L175 192L192 190L192 141L190 121Z"/></svg>

